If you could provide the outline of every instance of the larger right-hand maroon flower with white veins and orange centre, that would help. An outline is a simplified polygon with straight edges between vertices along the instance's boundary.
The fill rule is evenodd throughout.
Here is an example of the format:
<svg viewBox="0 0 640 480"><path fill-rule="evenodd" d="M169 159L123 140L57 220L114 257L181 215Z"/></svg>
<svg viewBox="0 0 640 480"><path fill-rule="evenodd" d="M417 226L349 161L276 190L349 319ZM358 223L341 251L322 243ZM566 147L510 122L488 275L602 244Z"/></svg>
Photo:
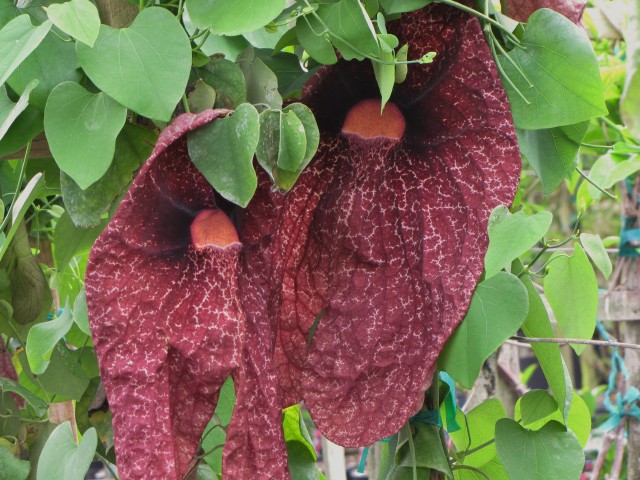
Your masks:
<svg viewBox="0 0 640 480"><path fill-rule="evenodd" d="M284 404L303 399L345 446L393 435L421 407L482 273L489 214L511 204L520 176L477 20L432 5L389 31L410 57L434 51L435 61L410 66L382 115L367 64L312 79L302 101L320 147L273 245Z"/></svg>

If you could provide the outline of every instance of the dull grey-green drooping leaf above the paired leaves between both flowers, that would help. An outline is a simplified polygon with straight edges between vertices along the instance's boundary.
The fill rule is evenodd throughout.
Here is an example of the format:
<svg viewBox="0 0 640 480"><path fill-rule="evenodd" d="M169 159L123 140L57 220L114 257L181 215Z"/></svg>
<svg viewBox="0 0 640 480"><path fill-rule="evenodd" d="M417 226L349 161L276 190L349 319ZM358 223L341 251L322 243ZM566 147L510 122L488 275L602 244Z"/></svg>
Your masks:
<svg viewBox="0 0 640 480"><path fill-rule="evenodd" d="M278 77L256 56L255 50L247 48L236 61L247 85L247 102L281 108L282 97L278 92Z"/></svg>

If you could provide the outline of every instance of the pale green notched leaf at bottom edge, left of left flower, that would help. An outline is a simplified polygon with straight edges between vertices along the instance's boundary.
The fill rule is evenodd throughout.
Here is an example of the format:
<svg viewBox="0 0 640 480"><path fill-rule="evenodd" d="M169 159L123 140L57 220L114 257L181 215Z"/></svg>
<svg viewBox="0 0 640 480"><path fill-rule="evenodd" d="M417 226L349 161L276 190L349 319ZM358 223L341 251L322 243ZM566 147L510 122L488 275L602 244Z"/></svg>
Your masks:
<svg viewBox="0 0 640 480"><path fill-rule="evenodd" d="M37 480L83 480L95 455L98 435L90 428L76 445L71 423L56 427L47 439L38 462Z"/></svg>

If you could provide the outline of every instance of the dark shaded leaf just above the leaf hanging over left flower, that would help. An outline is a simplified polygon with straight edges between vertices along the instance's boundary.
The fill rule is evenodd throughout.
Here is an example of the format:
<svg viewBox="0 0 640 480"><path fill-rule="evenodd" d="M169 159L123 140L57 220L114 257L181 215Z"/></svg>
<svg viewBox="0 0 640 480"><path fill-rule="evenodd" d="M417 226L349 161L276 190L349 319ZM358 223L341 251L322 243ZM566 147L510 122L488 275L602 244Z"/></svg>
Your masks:
<svg viewBox="0 0 640 480"><path fill-rule="evenodd" d="M196 70L207 85L216 91L216 108L236 108L247 101L247 85L240 67L230 60L214 58Z"/></svg>

